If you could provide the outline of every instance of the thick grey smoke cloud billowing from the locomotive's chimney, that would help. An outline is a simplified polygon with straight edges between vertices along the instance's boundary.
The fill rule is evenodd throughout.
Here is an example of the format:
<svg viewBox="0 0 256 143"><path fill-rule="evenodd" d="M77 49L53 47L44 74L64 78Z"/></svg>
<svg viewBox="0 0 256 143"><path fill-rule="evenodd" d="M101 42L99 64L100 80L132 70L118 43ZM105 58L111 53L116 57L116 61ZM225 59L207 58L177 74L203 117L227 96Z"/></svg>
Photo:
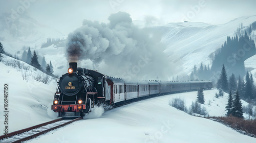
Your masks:
<svg viewBox="0 0 256 143"><path fill-rule="evenodd" d="M118 12L109 23L83 20L68 36L69 62L125 79L163 79L172 76L165 47L147 29L134 26L130 14Z"/></svg>

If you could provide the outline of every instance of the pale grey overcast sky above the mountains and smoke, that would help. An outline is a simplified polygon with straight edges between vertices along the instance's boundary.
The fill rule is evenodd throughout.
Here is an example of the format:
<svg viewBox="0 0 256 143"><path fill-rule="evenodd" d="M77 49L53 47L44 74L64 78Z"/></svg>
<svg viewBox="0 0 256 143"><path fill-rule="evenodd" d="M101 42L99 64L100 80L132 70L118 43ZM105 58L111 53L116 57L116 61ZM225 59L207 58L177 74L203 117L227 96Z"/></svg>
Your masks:
<svg viewBox="0 0 256 143"><path fill-rule="evenodd" d="M24 8L41 24L65 34L80 27L83 19L108 22L109 15L119 11L131 14L133 20L222 24L256 15L255 6L254 0L0 0L1 12L22 12Z"/></svg>

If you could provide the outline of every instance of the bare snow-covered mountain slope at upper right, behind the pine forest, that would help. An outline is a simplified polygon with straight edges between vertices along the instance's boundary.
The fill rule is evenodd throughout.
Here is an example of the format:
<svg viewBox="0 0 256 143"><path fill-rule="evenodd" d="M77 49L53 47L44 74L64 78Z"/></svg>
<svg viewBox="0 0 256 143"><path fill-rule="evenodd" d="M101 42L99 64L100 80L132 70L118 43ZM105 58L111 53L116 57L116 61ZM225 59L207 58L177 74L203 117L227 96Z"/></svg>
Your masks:
<svg viewBox="0 0 256 143"><path fill-rule="evenodd" d="M181 65L184 74L188 74L195 64L198 67L201 62L211 65L213 54L224 44L227 36L235 36L234 32L241 23L247 27L255 20L256 16L244 16L223 25L201 22L169 23L161 27L166 31L162 38L162 42L167 44L164 52L172 61ZM255 33L252 36L255 37Z"/></svg>

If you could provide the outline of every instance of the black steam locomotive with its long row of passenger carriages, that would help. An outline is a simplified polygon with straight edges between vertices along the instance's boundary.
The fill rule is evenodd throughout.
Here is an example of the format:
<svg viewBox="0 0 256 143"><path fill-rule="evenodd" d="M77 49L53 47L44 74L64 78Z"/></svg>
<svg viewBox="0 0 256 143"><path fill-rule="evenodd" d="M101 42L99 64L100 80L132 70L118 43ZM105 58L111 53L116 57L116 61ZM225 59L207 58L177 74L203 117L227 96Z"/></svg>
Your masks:
<svg viewBox="0 0 256 143"><path fill-rule="evenodd" d="M54 94L52 110L58 117L84 116L101 104L119 106L163 94L212 88L211 81L125 81L77 67L77 62L69 66Z"/></svg>

